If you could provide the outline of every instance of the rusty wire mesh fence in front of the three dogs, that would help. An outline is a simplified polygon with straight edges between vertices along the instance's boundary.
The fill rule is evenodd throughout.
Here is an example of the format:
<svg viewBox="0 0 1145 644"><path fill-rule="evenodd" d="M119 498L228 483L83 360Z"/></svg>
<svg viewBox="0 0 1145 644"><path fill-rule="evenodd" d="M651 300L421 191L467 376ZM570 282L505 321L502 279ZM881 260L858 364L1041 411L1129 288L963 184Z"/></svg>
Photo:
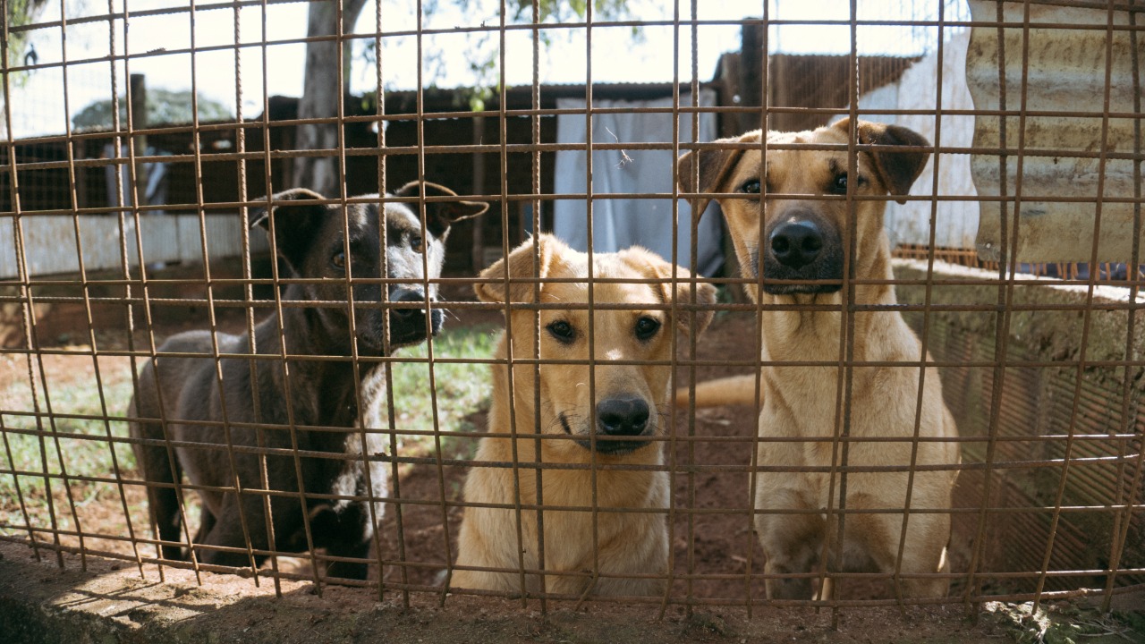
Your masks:
<svg viewBox="0 0 1145 644"><path fill-rule="evenodd" d="M1145 583L1145 6L2 6L0 540L546 610Z"/></svg>

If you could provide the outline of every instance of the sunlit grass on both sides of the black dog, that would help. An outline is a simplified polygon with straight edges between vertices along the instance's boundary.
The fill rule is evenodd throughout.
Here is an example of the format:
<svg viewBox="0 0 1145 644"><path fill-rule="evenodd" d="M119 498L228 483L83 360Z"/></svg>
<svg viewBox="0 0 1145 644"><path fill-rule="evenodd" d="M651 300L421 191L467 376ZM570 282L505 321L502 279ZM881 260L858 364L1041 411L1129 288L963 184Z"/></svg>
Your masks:
<svg viewBox="0 0 1145 644"><path fill-rule="evenodd" d="M497 329L491 325L450 329L434 339L435 359L481 360L492 356ZM403 350L400 358L426 358L428 347L420 345ZM44 356L47 392L44 384L29 383L25 375L8 380L0 386L0 534L26 534L30 521L37 527L50 525L48 494L45 479L45 461L49 474L60 474L66 469L69 477L112 478L118 462L125 478L136 474L135 457L127 443L110 443L113 437L127 435L127 423L123 418L132 396L131 368L126 361L103 364L101 361L102 391L105 405L101 405L100 388L90 363L77 368L74 361L54 361ZM82 362L82 361L81 361ZM11 364L9 364L11 366ZM398 362L393 369L394 408L398 432L434 431L434 402L437 407L437 429L442 432L473 432L474 424L466 421L474 413L488 409L490 395L490 370L485 363L435 362L434 382L436 395L431 395L429 364L426 362ZM33 387L35 395L33 398ZM47 402L50 400L52 413ZM40 415L33 414L39 409ZM106 421L90 418L68 418L62 415L109 417ZM37 432L37 433L27 433ZM42 435L40 435L42 433ZM60 435L70 434L70 435ZM435 437L398 437L398 446L406 455L425 456L435 454ZM58 442L58 447L57 447ZM113 445L113 447L112 447ZM472 455L475 441L442 437L443 455L464 457ZM114 449L114 460L112 460ZM34 472L35 474L13 474L10 472ZM17 482L19 496L17 496ZM131 487L131 486L128 486ZM121 517L119 492L114 484L70 481L71 498L77 508L103 504L110 515ZM71 527L68 496L60 478L50 480L55 515L61 528ZM137 492L137 489L136 489ZM136 495L141 496L141 495ZM23 500L23 509L19 498ZM129 500L129 503L131 500ZM132 503L143 503L142 498ZM25 520L24 511L29 518ZM145 508L137 509L145 517ZM82 518L82 517L81 517ZM110 520L110 519L109 519ZM86 521L85 529L100 529ZM102 529L112 529L105 526ZM118 529L118 528L116 528Z"/></svg>

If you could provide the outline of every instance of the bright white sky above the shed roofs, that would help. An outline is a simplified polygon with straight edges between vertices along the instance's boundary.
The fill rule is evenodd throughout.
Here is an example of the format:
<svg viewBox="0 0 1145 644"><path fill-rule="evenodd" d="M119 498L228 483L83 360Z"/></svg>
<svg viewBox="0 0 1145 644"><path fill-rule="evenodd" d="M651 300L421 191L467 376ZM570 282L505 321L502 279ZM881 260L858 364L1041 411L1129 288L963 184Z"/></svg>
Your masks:
<svg viewBox="0 0 1145 644"><path fill-rule="evenodd" d="M418 0L381 0L384 32L417 31ZM957 7L963 0L948 0ZM190 89L192 79L200 95L219 101L231 110L242 101L244 117L262 111L263 92L268 95L297 96L302 88L305 46L291 44L306 37L307 7L305 2L274 3L266 7L266 37L263 37L263 8L247 7L238 11L237 24L240 44L258 45L264 39L271 45L244 47L236 61L236 11L231 8L203 10L194 14L194 42L189 13L145 16L150 9L188 7L190 0L109 0L117 11L124 2L132 14L129 30L124 33L123 22L116 22L114 48L133 57L116 65L116 83L124 93L128 73L147 74L148 86L173 91ZM423 21L424 29L449 30L458 26L499 24L495 0L468 0L466 13L456 9L455 0L423 0L437 9ZM782 21L847 19L848 0L698 0L701 21L737 21L759 17L764 3L769 2L769 16ZM60 0L50 7L40 22L58 21L61 5L68 19L105 14L108 5L98 0ZM198 2L197 5L205 5ZM860 2L860 19L932 19L937 17L933 0L889 0ZM673 6L663 0L629 0L635 19L671 21ZM680 6L681 19L690 15L690 2ZM964 9L958 9L964 11ZM955 19L953 14L948 19ZM355 33L377 31L376 5L370 2L362 13ZM740 26L736 24L703 25L698 29L697 69L700 80L710 80L719 55L740 48ZM64 74L61 68L38 70L30 74L23 87L14 88L13 128L16 138L62 133L66 115L74 115L88 103L111 97L112 65L95 62L111 52L109 25L80 23L66 30L66 105ZM692 33L689 26L643 26L638 38L631 28L594 28L592 30L593 83L661 83L674 77L672 55L679 38L679 79L692 78ZM540 81L544 84L583 84L589 73L585 30L552 30L551 45L542 50ZM859 50L863 54L922 53L934 40L934 30L864 26L859 30ZM62 30L58 26L33 32L31 41L39 63L58 63L63 60ZM360 41L364 46L372 38ZM850 49L851 36L846 26L783 25L773 26L769 36L773 53L844 54ZM276 44L277 42L277 44ZM445 33L423 38L423 79L426 85L440 87L472 86L473 61L488 58L496 52L496 31L485 38ZM168 52L198 49L194 61L190 54ZM204 50L219 48L218 50ZM358 47L361 48L361 47ZM381 64L387 89L412 89L418 85L418 47L413 36L384 39ZM506 83L532 83L532 41L528 31L510 31L505 39ZM88 61L88 62L84 62ZM14 61L15 62L15 61ZM237 63L237 64L236 64ZM263 78L263 65L266 77ZM238 79L242 83L239 85ZM352 87L355 93L373 89L377 71L373 64L356 56ZM492 79L497 78L493 71ZM266 84L266 87L263 87ZM0 134L0 139L7 133Z"/></svg>

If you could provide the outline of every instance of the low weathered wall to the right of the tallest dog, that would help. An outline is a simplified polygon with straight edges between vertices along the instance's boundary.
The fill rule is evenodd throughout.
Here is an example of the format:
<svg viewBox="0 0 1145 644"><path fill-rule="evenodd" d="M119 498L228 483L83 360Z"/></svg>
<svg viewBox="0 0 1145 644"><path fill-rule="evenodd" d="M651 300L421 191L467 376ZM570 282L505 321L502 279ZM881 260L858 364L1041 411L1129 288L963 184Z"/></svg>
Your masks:
<svg viewBox="0 0 1145 644"><path fill-rule="evenodd" d="M981 439L963 445L963 462L985 463L995 437L980 570L1042 568L1063 481L1060 504L1067 509L1058 517L1049 570L1145 567L1145 370L1139 363L1113 364L1139 362L1145 347L1145 319L1137 313L1130 321L1124 309L1128 289L1097 286L1089 301L1085 285L1019 276L1000 330L997 305L1005 291L996 273L939 262L929 275L925 262L899 260L895 277L963 281L931 286L938 309L905 315L919 336L926 330L931 358L945 363L943 393L961 435ZM899 285L898 292L900 303L925 303L922 284ZM982 471L963 472L956 504L980 509L985 485ZM1116 509L1130 498L1136 498L1132 512ZM1119 532L1126 534L1120 561ZM956 517L955 540L977 533L977 512ZM1121 574L1116 583L1142 581L1140 573ZM1008 583L1025 589L1035 582ZM1061 576L1047 580L1047 588L1105 582L1100 574Z"/></svg>

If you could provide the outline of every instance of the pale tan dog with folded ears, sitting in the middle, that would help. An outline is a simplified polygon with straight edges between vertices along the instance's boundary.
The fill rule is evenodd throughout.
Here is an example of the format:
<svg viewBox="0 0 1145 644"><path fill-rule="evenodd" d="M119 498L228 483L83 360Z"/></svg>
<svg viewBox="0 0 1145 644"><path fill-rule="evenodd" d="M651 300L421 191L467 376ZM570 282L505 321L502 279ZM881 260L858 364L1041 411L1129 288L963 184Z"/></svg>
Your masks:
<svg viewBox="0 0 1145 644"><path fill-rule="evenodd" d="M458 566L504 572L458 570L451 586L520 592L521 574L512 571L520 570L523 550L526 570L543 567L546 573L544 587L539 574L527 574L527 592L655 595L663 589L668 568L668 526L663 512L648 510L668 510L668 473L633 468L663 466L663 442L655 439L664 435L666 416L672 413L672 333L677 327L685 333L703 331L711 321L716 290L711 284L696 284L695 301L709 309L697 312L692 327L682 308L692 303L686 282L690 274L686 269L640 248L594 253L594 364L590 367L589 256L550 235L539 235L536 243L536 269L530 239L508 257L508 274L514 283L507 292L506 265L499 260L481 273L485 281L475 286L477 297L482 301L531 305L536 288L543 306L574 306L539 312L539 370L531 361L538 340L535 309L514 307L508 314L512 346L507 336L503 337L496 358L505 361L512 354L526 362L514 366L512 388L507 364L493 367L489 435L481 439L476 454L477 462L502 466L475 465L465 481L467 502L500 508L466 508L457 556ZM666 282L673 269L680 280L674 285ZM530 282L536 278L542 282ZM561 278L576 281L545 281ZM677 320L670 311L673 299ZM552 360L569 362L545 362ZM641 361L658 363L631 363ZM589 386L590 369L593 392ZM539 409L535 387L539 388ZM513 438L514 433L520 438ZM539 458L536 434L542 434ZM519 480L506 466L514 458ZM560 465L544 469L540 500L535 469L538 461L542 468ZM543 566L536 512L521 510L519 515L513 509L518 503L528 508L538 502L545 508L561 508L543 513Z"/></svg>

